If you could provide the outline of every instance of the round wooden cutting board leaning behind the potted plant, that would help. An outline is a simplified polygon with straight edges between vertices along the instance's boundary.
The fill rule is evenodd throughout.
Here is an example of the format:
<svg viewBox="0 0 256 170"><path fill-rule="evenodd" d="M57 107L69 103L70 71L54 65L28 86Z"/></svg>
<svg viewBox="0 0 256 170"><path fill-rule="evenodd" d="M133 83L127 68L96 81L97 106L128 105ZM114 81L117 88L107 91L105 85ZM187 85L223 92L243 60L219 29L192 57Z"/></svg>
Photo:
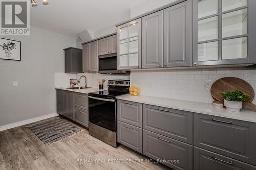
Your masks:
<svg viewBox="0 0 256 170"><path fill-rule="evenodd" d="M235 77L225 77L217 80L216 82L214 82L214 84L212 84L210 88L210 93L214 100L224 102L221 93L223 91L229 92L231 90L240 90L247 95L250 95L252 97L252 100L254 98L254 90L251 85L248 82Z"/></svg>

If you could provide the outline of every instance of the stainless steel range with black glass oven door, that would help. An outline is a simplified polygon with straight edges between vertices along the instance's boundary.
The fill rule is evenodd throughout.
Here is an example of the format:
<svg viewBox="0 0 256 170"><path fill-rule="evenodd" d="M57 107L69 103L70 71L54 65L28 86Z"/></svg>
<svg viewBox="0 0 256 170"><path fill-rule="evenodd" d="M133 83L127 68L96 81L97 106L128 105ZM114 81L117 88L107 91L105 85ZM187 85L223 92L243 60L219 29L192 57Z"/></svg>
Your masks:
<svg viewBox="0 0 256 170"><path fill-rule="evenodd" d="M116 96L129 93L130 80L110 80L108 89L89 93L89 134L117 147Z"/></svg>

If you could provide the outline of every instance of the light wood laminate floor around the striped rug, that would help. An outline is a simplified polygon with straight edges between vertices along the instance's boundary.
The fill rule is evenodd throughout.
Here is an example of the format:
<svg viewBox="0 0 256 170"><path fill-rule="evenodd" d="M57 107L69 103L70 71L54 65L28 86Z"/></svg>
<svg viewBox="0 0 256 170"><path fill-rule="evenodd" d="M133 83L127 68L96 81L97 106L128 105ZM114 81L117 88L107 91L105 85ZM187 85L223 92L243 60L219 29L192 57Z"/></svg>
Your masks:
<svg viewBox="0 0 256 170"><path fill-rule="evenodd" d="M168 169L158 163L129 162L134 160L146 158L122 146L113 148L90 136L88 130L83 128L49 145L42 143L26 126L0 132L1 170ZM109 161L116 163L106 163Z"/></svg>

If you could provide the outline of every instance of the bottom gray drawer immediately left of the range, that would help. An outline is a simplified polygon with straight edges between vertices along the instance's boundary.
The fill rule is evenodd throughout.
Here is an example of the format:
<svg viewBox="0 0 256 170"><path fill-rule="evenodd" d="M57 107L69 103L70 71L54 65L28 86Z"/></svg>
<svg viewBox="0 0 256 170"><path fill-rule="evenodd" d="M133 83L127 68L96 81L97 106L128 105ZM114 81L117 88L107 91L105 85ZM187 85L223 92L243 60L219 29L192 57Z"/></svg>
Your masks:
<svg viewBox="0 0 256 170"><path fill-rule="evenodd" d="M74 107L74 120L75 122L88 128L88 111Z"/></svg>

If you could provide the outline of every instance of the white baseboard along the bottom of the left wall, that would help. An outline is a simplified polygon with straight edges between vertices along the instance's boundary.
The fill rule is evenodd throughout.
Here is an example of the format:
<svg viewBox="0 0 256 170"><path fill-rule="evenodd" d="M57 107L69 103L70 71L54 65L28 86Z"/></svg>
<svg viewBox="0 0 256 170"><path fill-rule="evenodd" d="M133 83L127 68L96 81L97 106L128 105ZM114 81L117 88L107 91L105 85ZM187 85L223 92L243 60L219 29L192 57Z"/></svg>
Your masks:
<svg viewBox="0 0 256 170"><path fill-rule="evenodd" d="M23 120L23 121L16 122L16 123L13 123L13 124L1 126L0 127L0 132L4 131L4 130L7 130L7 129L12 129L12 128L16 128L16 127L19 127L19 126L31 124L31 123L37 122L39 120L44 120L44 119L47 119L47 118L55 117L55 116L58 116L58 115L59 115L58 113L52 113L52 114L48 114L48 115L44 115L44 116L40 116L40 117L35 117L35 118Z"/></svg>

